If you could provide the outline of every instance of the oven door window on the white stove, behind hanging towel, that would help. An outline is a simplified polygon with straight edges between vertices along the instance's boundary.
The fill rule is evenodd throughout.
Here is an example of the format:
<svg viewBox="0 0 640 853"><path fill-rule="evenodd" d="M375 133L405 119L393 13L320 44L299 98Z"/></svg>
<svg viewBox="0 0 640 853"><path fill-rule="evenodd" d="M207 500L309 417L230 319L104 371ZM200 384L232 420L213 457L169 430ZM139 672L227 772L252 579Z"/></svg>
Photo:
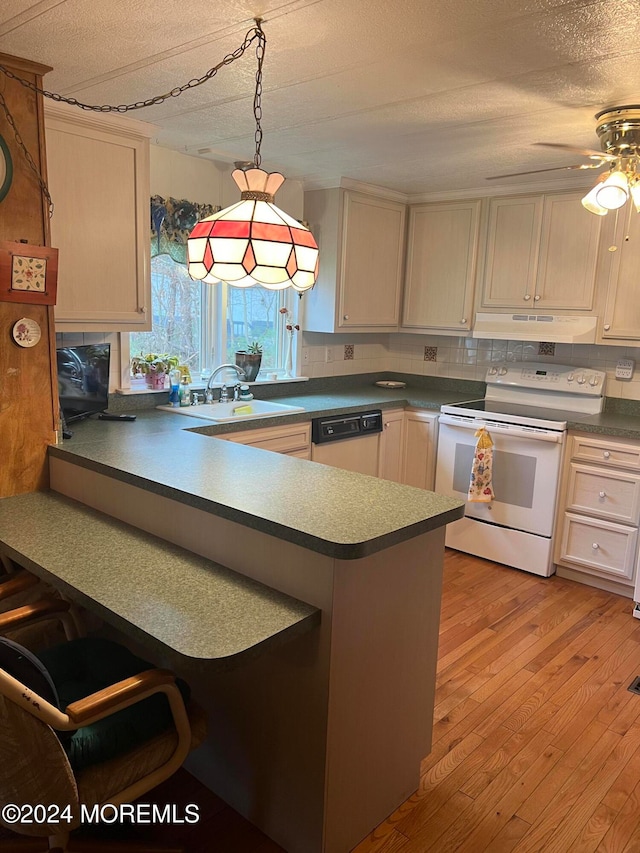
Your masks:
<svg viewBox="0 0 640 853"><path fill-rule="evenodd" d="M453 488L465 494L469 490L471 464L475 447L456 444L453 463ZM493 451L493 493L496 501L510 506L533 506L533 489L536 476L536 457L521 453Z"/></svg>

